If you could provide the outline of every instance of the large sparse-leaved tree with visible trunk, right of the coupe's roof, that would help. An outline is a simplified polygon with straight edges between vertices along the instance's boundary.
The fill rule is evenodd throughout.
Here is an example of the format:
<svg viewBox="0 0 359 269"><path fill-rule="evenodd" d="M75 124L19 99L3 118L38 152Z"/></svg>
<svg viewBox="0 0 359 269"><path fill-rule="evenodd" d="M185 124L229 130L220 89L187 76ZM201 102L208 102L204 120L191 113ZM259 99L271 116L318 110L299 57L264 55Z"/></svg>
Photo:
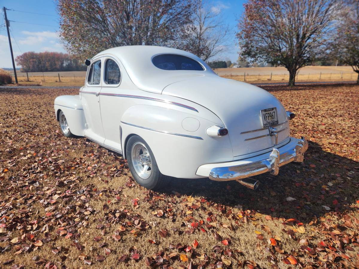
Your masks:
<svg viewBox="0 0 359 269"><path fill-rule="evenodd" d="M241 57L284 66L289 86L312 63L332 29L337 0L249 0L238 22Z"/></svg>

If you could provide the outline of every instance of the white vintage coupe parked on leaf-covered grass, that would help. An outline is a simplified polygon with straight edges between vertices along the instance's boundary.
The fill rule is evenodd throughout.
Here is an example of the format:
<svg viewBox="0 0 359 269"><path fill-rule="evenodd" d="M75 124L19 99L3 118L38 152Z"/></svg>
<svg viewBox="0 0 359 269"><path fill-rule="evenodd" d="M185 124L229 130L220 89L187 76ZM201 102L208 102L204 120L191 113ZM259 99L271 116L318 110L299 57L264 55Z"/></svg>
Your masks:
<svg viewBox="0 0 359 269"><path fill-rule="evenodd" d="M55 99L61 131L122 154L146 188L172 176L256 189L250 176L303 161L308 143L290 137L293 113L265 90L217 76L191 53L125 46L86 64L79 95Z"/></svg>

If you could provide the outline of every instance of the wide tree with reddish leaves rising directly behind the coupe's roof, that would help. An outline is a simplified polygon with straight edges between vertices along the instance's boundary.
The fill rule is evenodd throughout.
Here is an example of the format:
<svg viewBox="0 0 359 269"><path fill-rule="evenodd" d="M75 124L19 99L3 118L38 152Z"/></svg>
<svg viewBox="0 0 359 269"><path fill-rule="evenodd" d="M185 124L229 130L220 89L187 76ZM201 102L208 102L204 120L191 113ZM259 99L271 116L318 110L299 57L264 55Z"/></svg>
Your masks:
<svg viewBox="0 0 359 269"><path fill-rule="evenodd" d="M111 47L163 45L176 40L194 0L57 0L60 36L80 58Z"/></svg>

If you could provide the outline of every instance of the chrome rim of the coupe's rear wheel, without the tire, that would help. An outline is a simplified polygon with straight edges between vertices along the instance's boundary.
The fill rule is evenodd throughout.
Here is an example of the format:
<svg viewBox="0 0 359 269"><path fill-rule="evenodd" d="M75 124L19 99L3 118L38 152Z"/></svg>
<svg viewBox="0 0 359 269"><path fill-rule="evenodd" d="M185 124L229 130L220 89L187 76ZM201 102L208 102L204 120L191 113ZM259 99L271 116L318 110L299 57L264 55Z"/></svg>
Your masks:
<svg viewBox="0 0 359 269"><path fill-rule="evenodd" d="M134 143L131 149L131 160L137 175L143 179L148 179L151 176L151 155L143 143Z"/></svg>

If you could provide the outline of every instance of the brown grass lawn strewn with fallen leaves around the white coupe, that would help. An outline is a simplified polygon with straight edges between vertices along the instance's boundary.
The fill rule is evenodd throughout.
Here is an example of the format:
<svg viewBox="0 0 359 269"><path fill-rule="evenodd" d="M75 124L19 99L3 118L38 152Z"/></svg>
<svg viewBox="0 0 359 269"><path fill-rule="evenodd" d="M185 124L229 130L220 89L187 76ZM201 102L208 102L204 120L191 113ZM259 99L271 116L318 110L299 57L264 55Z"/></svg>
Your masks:
<svg viewBox="0 0 359 269"><path fill-rule="evenodd" d="M0 89L1 266L358 268L359 86L265 89L297 114L303 164L257 176L256 191L172 179L163 192L61 134L53 100L77 88Z"/></svg>

